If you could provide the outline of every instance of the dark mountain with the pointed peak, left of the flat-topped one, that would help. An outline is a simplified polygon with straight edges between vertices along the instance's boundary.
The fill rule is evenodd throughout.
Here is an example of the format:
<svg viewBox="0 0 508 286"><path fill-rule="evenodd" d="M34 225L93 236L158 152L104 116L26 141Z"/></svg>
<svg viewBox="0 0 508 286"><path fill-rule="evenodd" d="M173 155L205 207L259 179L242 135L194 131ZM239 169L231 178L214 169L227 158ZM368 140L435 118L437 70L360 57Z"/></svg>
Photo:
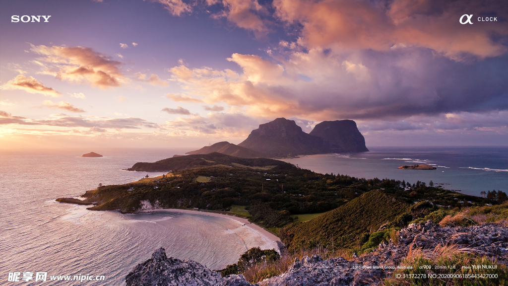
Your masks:
<svg viewBox="0 0 508 286"><path fill-rule="evenodd" d="M295 121L285 118L261 124L238 146L272 157L326 153L322 138L303 132Z"/></svg>

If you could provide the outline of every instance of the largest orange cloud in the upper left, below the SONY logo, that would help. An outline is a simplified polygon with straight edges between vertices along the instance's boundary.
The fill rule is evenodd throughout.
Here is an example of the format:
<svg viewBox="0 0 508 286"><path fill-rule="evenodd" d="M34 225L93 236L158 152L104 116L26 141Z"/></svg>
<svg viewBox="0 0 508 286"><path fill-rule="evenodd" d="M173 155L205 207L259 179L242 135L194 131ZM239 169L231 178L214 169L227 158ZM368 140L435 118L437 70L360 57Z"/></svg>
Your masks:
<svg viewBox="0 0 508 286"><path fill-rule="evenodd" d="M120 87L125 82L119 68L121 63L91 48L31 45L31 50L45 56L37 59L44 68L43 74L101 89Z"/></svg>

